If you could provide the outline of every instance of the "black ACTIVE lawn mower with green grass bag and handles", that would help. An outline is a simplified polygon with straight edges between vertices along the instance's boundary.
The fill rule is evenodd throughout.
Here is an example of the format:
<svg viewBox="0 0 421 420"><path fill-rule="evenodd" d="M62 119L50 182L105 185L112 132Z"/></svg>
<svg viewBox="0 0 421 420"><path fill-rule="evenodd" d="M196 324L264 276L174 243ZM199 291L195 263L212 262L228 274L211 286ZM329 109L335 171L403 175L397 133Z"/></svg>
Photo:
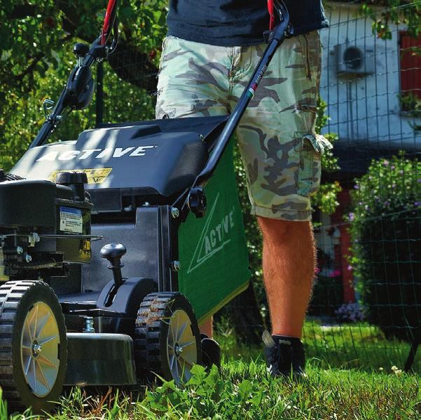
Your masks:
<svg viewBox="0 0 421 420"><path fill-rule="evenodd" d="M275 1L279 22L230 116L104 124L48 143L65 113L91 102L90 67L118 43L116 8L110 0L95 42L76 43L39 134L0 171L0 386L11 411L48 412L64 385L135 386L151 372L188 381L202 362L198 324L249 283L230 137L292 33L287 9Z"/></svg>

